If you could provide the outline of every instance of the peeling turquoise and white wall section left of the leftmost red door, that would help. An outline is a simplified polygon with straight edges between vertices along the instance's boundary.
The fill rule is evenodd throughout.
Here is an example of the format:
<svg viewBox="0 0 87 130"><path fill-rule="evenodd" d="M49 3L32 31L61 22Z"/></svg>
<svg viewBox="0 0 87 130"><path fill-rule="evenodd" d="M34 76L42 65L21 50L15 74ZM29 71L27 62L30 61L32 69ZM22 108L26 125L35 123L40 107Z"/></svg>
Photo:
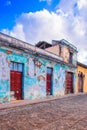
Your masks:
<svg viewBox="0 0 87 130"><path fill-rule="evenodd" d="M0 102L10 101L10 68L5 51L0 51Z"/></svg>

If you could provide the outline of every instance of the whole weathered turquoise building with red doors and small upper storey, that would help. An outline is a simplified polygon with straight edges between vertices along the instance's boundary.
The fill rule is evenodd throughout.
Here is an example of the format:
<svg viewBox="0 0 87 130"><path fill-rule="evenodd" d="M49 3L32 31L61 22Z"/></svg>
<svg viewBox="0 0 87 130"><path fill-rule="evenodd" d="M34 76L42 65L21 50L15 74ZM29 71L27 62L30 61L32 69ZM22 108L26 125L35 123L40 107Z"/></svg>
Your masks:
<svg viewBox="0 0 87 130"><path fill-rule="evenodd" d="M43 50L0 33L0 102L74 93L76 67L77 49L65 40Z"/></svg>

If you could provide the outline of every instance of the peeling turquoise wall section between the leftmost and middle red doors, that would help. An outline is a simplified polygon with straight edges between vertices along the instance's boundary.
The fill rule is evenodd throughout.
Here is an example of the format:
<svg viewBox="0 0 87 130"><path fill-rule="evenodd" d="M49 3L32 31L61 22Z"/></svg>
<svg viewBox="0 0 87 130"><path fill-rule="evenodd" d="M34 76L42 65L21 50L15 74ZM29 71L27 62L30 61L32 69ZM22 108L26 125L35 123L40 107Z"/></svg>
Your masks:
<svg viewBox="0 0 87 130"><path fill-rule="evenodd" d="M28 57L27 73L24 77L24 99L35 99L46 96L45 64L46 61L40 58Z"/></svg>

